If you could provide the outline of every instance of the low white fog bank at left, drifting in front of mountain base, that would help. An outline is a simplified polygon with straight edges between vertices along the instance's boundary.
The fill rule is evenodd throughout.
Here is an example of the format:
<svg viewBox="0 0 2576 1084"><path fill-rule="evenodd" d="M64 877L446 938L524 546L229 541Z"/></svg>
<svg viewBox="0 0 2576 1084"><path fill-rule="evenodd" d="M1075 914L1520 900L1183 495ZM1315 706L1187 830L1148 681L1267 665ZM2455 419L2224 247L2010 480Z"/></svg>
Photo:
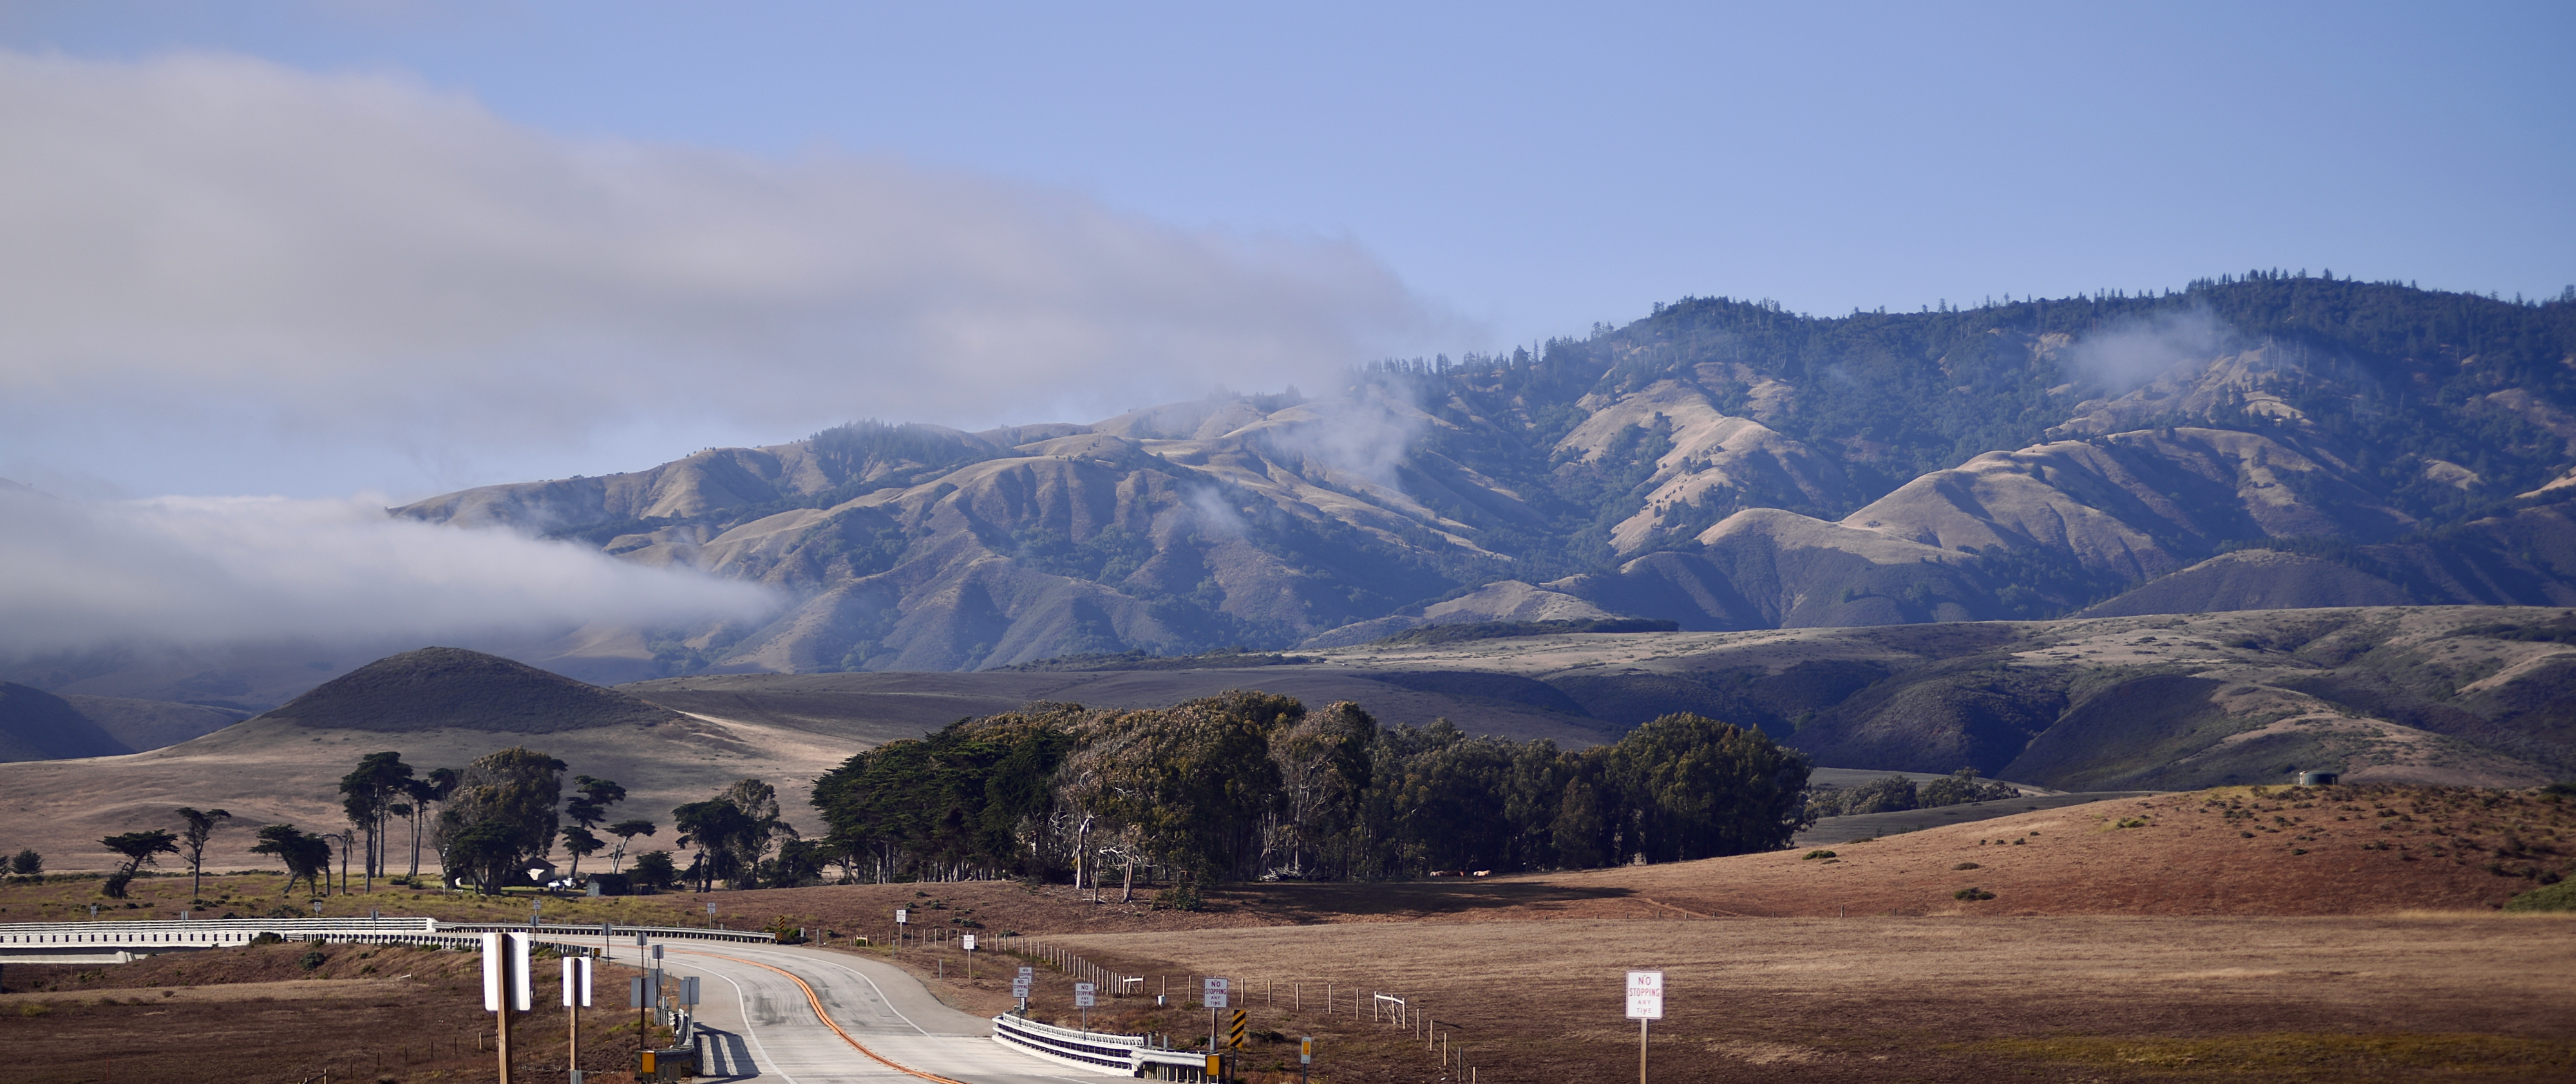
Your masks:
<svg viewBox="0 0 2576 1084"><path fill-rule="evenodd" d="M474 639L752 621L755 584L358 500L70 502L0 484L0 657L113 644Z"/></svg>

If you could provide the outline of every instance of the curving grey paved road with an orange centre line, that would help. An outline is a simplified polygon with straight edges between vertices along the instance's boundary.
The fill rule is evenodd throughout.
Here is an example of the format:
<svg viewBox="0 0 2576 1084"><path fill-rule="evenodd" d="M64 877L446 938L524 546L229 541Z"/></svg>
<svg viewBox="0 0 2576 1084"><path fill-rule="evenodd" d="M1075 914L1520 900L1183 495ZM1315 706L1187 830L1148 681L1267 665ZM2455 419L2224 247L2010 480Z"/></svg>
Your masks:
<svg viewBox="0 0 2576 1084"><path fill-rule="evenodd" d="M992 1022L951 1009L902 968L842 953L778 945L670 945L662 960L675 976L703 976L698 1020L708 1035L708 1063L719 1079L783 1084L914 1081L855 1051L969 1084L1103 1084L1087 1074L1030 1058L994 1043ZM814 1017L814 1004L793 978L804 978L840 1025L842 1038ZM729 1074L729 1076L726 1076Z"/></svg>

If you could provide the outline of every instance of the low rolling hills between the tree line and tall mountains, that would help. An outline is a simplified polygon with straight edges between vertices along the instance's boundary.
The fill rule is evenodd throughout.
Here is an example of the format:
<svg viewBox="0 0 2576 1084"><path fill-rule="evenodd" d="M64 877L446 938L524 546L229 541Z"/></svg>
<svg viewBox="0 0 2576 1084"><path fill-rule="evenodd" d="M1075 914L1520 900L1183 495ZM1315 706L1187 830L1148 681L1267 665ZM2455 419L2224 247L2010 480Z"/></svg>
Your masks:
<svg viewBox="0 0 2576 1084"><path fill-rule="evenodd" d="M175 806L337 824L366 752L417 767L528 744L623 783L621 816L757 775L788 816L858 749L1030 700L1170 706L1229 687L1358 700L1381 724L1589 747L1669 711L1759 726L1824 767L2056 790L2190 790L2339 770L2352 783L2576 778L2576 610L2339 608L1940 626L1394 639L1175 664L1020 672L696 675L590 687L459 649L404 651L167 749L0 765L10 845L95 868L95 839ZM1121 669L1133 667L1133 669ZM541 706L531 711L531 706ZM229 834L219 863L263 865Z"/></svg>

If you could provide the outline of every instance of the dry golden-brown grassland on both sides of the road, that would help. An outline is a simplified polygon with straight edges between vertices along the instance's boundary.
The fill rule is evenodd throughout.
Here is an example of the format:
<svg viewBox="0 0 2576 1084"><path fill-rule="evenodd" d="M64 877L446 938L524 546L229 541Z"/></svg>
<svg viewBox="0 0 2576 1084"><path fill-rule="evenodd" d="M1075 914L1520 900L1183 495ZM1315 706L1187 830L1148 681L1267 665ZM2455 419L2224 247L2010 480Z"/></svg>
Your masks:
<svg viewBox="0 0 2576 1084"><path fill-rule="evenodd" d="M1177 1004L1193 981L1229 973L1252 989L1260 1084L1293 1079L1296 1035L1316 1035L1316 1079L1334 1084L1466 1079L1463 1069L1479 1084L1628 1079L1628 968L1662 968L1672 989L1649 1053L1654 1081L2576 1081L2576 919L2496 911L2512 893L2576 875L2568 801L2226 788L1826 850L1515 878L1229 886L1203 911L1154 909L1151 888L1121 904L1115 886L1095 901L1015 881L549 899L544 909L556 922L698 924L714 901L729 927L806 927L835 948L894 958L971 1012L1002 1009L1002 966L1023 960L989 953L966 981L951 937L1023 935L1043 942L1030 955L1041 1017L1072 1020L1072 976L1056 963L1079 953L1146 976L1149 994L1175 994L1164 1009L1151 996L1110 1002L1097 1027L1175 1035L1206 1027L1203 1012ZM1978 899L1960 899L1965 888ZM175 917L188 881L144 878L134 893L124 906L98 899L95 878L15 881L0 886L0 922L85 919L90 904L100 919ZM209 878L204 896L198 914L309 914L309 893L283 893L276 873ZM379 883L330 896L325 914L497 922L526 919L528 906L526 896ZM912 932L930 945L889 953L894 906L912 909ZM245 1066L340 1058L371 1074L355 1079L402 1084L489 1079L489 1056L456 1051L482 1020L466 994L422 1012L397 1012L381 994L402 973L453 986L461 978L448 971L466 955L335 948L301 971L258 953L270 950L90 973L13 966L0 1040L113 1051L113 1076L67 1056L39 1058L46 1069L28 1079L41 1081L265 1079L247 1069L201 1076L222 1063L201 1056L209 1048L268 1051ZM394 958L399 968L386 971ZM1427 1007L1430 1035L1355 1014L1352 994L1373 991ZM216 1012L219 1002L263 1009ZM446 1053L435 1053L440 1035Z"/></svg>

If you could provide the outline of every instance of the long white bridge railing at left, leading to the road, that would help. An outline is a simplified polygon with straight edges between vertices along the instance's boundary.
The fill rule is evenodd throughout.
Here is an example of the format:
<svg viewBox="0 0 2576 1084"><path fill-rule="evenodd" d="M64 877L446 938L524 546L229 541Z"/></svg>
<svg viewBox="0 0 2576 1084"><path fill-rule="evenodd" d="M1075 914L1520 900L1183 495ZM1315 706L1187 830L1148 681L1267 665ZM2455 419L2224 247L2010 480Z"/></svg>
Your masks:
<svg viewBox="0 0 2576 1084"><path fill-rule="evenodd" d="M585 937L652 940L729 940L775 942L768 930L701 927L595 927L572 922L502 924L438 922L422 917L384 919L178 919L178 922L0 922L0 963L126 963L139 955L188 953L204 948L250 945L260 935L353 945L482 945L484 932L533 932L538 940L580 942Z"/></svg>

